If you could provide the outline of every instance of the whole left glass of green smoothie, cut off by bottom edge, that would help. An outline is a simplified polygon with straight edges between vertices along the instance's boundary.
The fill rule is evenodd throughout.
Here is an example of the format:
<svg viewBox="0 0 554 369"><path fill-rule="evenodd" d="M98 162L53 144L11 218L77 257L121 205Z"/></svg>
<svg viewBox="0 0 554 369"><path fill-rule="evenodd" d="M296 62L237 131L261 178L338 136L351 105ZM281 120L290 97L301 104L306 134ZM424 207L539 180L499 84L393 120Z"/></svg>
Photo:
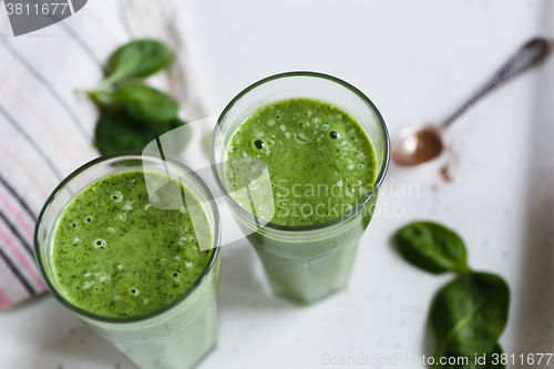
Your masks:
<svg viewBox="0 0 554 369"><path fill-rule="evenodd" d="M37 264L54 298L140 368L192 368L216 342L219 227L209 189L185 165L113 154L52 193Z"/></svg>

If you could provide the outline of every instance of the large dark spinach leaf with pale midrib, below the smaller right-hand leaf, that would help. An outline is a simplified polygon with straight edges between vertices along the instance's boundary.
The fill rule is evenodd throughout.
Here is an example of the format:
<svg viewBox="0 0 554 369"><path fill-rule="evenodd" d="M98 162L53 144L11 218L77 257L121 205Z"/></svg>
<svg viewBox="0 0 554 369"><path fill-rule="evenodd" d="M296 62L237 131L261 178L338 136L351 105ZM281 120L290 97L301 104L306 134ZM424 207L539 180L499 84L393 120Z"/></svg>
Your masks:
<svg viewBox="0 0 554 369"><path fill-rule="evenodd" d="M441 288L431 306L437 357L491 352L507 321L510 289L500 276L460 275Z"/></svg>

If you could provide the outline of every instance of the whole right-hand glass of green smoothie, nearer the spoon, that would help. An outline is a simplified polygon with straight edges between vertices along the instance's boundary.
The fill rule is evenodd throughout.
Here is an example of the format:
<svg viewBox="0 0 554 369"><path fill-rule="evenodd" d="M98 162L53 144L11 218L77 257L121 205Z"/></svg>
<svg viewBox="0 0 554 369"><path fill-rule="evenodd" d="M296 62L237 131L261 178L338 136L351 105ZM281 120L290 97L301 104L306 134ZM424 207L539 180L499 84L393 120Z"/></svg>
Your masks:
<svg viewBox="0 0 554 369"><path fill-rule="evenodd" d="M273 75L226 106L212 168L277 296L312 304L346 287L389 153L373 103L330 75Z"/></svg>

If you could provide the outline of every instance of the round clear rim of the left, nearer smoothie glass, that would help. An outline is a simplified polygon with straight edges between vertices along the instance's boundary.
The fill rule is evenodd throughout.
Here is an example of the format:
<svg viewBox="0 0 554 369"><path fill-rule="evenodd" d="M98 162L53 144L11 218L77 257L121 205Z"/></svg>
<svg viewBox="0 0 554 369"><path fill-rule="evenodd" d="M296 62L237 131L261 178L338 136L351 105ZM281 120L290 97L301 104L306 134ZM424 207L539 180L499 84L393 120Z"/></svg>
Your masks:
<svg viewBox="0 0 554 369"><path fill-rule="evenodd" d="M161 161L170 162L170 163L176 165L177 167L179 167L181 170L184 170L188 175L191 175L193 177L194 181L196 181L196 183L201 186L201 188L205 192L206 196L208 197L208 202L211 204L212 212L214 214L214 245L213 245L214 247L212 247L212 253L211 253L208 263L207 263L206 267L202 270L198 278L196 278L196 280L183 294L177 296L170 304L164 305L154 311L150 311L150 312L138 315L138 316L125 317L125 318L105 317L105 316L101 316L101 315L84 310L84 309L73 305L69 299L66 299L60 293L58 293L58 290L52 285L50 278L47 276L47 273L45 273L45 269L43 266L43 257L42 257L41 249L40 249L39 234L42 229L42 223L43 223L43 219L44 219L47 212L50 208L50 205L57 198L57 196L63 191L63 188L69 183L71 183L72 180L74 180L76 176L79 176L85 170L93 167L96 164L106 162L109 160L126 158L126 157L129 157L130 160L137 160L136 156L140 156L141 158L143 156L146 156L146 157L151 157L151 158L157 158ZM94 181L98 181L98 180L100 180L100 178L95 178ZM93 183L93 182L91 182L91 183ZM90 185L91 183L89 183L88 185ZM73 199L73 198L74 198L74 196L71 199ZM70 199L70 202L71 202L71 199ZM69 310L71 310L72 312L74 312L79 316L83 316L85 318L93 319L96 321L102 321L102 322L106 322L106 324L131 324L131 322L145 321L145 320L148 320L150 318L160 316L163 312L171 310L172 308L174 308L175 306L181 304L183 300L185 300L194 290L196 290L196 288L204 281L204 279L206 279L207 274L215 266L216 258L219 255L219 247L217 246L219 244L219 238L220 238L220 219L219 219L219 212L217 209L217 206L215 206L214 196L212 195L212 192L209 191L207 185L204 183L204 181L193 170L191 170L188 166L186 166L185 164L183 164L182 162L179 162L178 160L176 160L174 157L168 157L168 156L164 155L164 157L162 158L162 157L156 156L154 154L148 154L148 153L141 152L141 151L124 151L124 152L113 153L113 154L109 154L109 155L102 155L102 156L99 156L99 157L81 165L79 168L76 168L70 175L68 175L55 187L55 189L52 192L52 194L48 197L47 202L44 203L44 206L42 207L42 209L39 214L39 217L37 219L37 226L34 228L34 235L33 235L33 244L34 244L34 258L35 258L35 262L38 265L39 274L42 277L42 280L44 281L44 285L47 286L47 289L49 290L49 293L60 304L62 304L65 308L68 308Z"/></svg>

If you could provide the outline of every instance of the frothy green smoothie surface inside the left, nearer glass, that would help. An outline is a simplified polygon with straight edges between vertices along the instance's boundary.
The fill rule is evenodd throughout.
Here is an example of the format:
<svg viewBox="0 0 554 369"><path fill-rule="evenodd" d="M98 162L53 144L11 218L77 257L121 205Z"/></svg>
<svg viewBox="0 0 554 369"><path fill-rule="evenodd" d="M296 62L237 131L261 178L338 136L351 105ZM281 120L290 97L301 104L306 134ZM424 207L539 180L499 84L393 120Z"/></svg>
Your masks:
<svg viewBox="0 0 554 369"><path fill-rule="evenodd" d="M148 175L194 198L176 180ZM163 191L154 196L163 199ZM160 207L148 198L142 171L100 178L69 203L55 226L52 258L72 304L104 317L133 317L160 309L194 284L211 255L198 247L201 237L212 237L207 218L203 214L198 224L195 214L193 225L186 206Z"/></svg>

